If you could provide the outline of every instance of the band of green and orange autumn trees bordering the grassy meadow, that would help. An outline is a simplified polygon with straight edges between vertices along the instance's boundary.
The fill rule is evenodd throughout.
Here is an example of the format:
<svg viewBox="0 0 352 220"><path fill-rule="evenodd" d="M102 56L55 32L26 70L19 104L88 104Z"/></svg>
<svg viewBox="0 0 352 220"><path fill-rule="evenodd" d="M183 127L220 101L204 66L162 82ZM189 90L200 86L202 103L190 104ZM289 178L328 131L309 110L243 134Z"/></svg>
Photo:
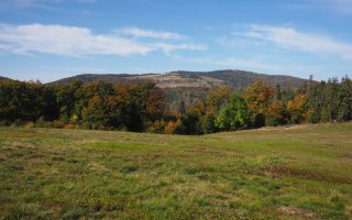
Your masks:
<svg viewBox="0 0 352 220"><path fill-rule="evenodd" d="M12 127L122 130L206 134L261 127L340 122L352 119L349 77L280 88L255 80L243 91L229 86L207 90L194 105L167 105L153 81L139 84L44 85L0 80L0 123Z"/></svg>

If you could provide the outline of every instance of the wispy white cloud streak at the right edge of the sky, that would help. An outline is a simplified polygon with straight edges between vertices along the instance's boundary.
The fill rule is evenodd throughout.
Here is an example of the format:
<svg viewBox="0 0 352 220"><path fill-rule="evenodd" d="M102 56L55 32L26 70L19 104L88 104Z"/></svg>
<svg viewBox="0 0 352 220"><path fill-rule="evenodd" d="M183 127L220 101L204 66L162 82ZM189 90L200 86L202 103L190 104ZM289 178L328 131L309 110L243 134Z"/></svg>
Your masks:
<svg viewBox="0 0 352 220"><path fill-rule="evenodd" d="M305 33L293 28L250 25L242 36L271 42L279 47L308 52L317 55L337 55L344 59L352 58L352 44L338 42L331 37Z"/></svg>

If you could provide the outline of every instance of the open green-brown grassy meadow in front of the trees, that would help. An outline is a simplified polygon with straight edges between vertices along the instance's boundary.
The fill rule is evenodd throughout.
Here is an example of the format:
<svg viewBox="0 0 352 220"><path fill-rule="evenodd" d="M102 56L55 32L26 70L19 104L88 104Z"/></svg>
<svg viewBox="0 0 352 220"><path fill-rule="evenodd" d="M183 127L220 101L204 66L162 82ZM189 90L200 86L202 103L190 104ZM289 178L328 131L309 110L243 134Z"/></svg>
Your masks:
<svg viewBox="0 0 352 220"><path fill-rule="evenodd" d="M202 136L0 128L1 219L352 219L352 123Z"/></svg>

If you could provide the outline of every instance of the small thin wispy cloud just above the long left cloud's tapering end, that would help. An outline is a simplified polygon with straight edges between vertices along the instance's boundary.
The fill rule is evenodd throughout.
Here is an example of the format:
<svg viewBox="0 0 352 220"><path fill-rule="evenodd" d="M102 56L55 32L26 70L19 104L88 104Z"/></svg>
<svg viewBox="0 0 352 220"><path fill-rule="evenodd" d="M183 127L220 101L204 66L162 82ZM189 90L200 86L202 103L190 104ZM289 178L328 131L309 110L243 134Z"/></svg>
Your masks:
<svg viewBox="0 0 352 220"><path fill-rule="evenodd" d="M152 31L152 30L143 30L135 26L124 28L119 30L118 33L129 36L135 37L150 37L150 38L163 38L163 40L183 40L186 36L180 35L174 32L165 32L165 31Z"/></svg>

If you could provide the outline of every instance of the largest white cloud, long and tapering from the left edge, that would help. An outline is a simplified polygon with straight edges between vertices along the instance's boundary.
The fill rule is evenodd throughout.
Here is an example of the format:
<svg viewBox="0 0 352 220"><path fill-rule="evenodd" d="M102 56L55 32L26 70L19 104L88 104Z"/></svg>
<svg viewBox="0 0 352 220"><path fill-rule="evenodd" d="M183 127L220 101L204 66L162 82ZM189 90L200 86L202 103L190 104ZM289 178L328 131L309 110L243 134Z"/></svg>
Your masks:
<svg viewBox="0 0 352 220"><path fill-rule="evenodd" d="M89 29L64 25L8 25L0 24L0 51L32 54L33 52L86 56L86 55L145 55L162 50L205 50L194 44L140 43L119 35L94 34Z"/></svg>

